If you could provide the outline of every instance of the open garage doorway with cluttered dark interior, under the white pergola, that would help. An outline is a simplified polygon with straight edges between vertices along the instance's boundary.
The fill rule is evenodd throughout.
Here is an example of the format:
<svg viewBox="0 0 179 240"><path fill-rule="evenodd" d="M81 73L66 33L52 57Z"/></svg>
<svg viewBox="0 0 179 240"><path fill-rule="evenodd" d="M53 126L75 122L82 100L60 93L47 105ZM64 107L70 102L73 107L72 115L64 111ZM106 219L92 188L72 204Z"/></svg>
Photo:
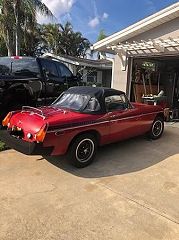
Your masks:
<svg viewBox="0 0 179 240"><path fill-rule="evenodd" d="M135 58L130 97L133 102L162 105L168 117L179 119L179 56Z"/></svg>

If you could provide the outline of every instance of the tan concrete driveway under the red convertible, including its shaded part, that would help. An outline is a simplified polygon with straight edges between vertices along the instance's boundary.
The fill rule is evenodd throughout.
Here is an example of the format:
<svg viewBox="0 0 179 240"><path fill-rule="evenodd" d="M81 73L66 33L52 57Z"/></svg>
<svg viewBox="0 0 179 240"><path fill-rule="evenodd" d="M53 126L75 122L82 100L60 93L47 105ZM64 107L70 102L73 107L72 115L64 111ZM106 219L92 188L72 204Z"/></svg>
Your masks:
<svg viewBox="0 0 179 240"><path fill-rule="evenodd" d="M179 239L179 129L65 159L0 153L1 240Z"/></svg>

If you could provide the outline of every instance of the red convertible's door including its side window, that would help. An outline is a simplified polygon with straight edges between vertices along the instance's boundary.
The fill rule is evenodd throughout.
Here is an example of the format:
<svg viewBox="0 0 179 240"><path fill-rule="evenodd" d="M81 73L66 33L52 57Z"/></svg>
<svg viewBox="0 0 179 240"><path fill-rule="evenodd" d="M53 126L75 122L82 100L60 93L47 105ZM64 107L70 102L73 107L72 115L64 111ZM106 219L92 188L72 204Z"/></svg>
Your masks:
<svg viewBox="0 0 179 240"><path fill-rule="evenodd" d="M105 97L110 142L140 135L140 116L124 94Z"/></svg>

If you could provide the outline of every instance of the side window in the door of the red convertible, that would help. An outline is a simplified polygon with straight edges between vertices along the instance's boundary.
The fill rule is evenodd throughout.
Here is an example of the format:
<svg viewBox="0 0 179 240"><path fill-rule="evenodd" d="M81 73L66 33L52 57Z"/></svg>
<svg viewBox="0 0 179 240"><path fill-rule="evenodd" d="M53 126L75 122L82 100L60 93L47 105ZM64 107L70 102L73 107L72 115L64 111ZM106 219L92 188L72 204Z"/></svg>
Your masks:
<svg viewBox="0 0 179 240"><path fill-rule="evenodd" d="M116 110L125 110L129 107L128 100L124 94L113 95L105 98L106 110L116 111Z"/></svg>

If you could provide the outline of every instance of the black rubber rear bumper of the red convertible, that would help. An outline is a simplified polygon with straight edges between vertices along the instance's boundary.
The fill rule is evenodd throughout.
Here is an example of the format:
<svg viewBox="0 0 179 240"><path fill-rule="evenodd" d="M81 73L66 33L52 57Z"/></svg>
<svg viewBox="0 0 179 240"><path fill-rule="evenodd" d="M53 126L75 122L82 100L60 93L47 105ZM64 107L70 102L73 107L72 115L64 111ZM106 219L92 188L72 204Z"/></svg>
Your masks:
<svg viewBox="0 0 179 240"><path fill-rule="evenodd" d="M43 147L43 143L26 142L15 138L7 130L0 130L0 139L10 148L26 155L51 155L53 147Z"/></svg>

